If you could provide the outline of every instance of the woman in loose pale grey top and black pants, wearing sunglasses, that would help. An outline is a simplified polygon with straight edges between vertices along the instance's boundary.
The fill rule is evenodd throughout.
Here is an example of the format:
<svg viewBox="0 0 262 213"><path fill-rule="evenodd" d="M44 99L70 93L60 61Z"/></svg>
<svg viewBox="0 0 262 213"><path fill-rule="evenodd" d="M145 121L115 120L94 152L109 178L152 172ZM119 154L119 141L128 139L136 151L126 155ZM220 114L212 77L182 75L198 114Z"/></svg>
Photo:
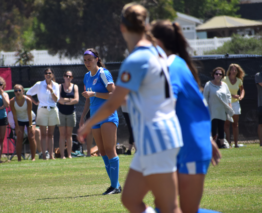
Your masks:
<svg viewBox="0 0 262 213"><path fill-rule="evenodd" d="M222 67L217 67L213 70L213 80L208 81L204 88L204 97L208 102L212 121L212 137L217 134L220 143L219 148L226 148L224 144L224 124L225 120L232 119L234 114L231 108L231 93L228 86L221 79L225 76L225 70Z"/></svg>

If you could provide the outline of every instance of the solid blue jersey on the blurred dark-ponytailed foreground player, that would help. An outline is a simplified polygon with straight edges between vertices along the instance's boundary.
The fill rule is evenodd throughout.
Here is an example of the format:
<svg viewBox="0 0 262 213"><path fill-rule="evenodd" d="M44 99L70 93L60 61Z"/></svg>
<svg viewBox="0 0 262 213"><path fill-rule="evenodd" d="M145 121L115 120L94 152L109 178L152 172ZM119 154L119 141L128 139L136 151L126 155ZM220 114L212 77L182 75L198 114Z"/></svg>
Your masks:
<svg viewBox="0 0 262 213"><path fill-rule="evenodd" d="M210 160L212 147L208 104L184 59L170 55L168 67L184 142L178 154L178 164Z"/></svg>

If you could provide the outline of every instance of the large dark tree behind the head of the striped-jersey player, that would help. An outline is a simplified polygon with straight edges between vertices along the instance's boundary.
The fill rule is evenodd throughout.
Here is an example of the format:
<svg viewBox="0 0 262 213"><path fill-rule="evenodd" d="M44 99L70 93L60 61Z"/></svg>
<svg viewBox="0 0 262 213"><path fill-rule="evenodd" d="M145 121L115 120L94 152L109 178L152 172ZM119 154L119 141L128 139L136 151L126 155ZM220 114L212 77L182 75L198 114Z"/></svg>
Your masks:
<svg viewBox="0 0 262 213"><path fill-rule="evenodd" d="M42 0L35 2L36 46L52 54L75 57L96 48L106 61L124 59L126 44L120 32L121 10L127 0ZM150 19L176 16L172 0L144 0Z"/></svg>

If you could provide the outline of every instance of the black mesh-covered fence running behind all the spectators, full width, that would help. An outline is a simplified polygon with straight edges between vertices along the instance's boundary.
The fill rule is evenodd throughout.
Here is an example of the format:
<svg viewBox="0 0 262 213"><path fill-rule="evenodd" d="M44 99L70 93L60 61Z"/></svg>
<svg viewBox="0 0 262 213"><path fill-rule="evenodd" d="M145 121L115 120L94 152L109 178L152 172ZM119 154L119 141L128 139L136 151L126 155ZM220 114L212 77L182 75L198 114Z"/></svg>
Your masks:
<svg viewBox="0 0 262 213"><path fill-rule="evenodd" d="M262 56L203 56L193 57L193 60L199 70L199 77L204 87L205 83L211 80L212 70L220 66L227 70L231 63L239 64L246 73L244 77L244 90L245 97L240 102L241 115L239 116L239 140L252 140L257 139L257 89L254 81L254 76L257 72L262 71ZM111 72L114 81L117 79L118 70L121 62L106 63L106 68ZM33 86L37 81L44 80L45 66L14 66L11 67L12 71L12 86L21 84L25 88ZM76 104L77 126L74 128L73 133L76 133L78 123L84 109L85 98L81 95L84 91L83 78L88 71L84 65L51 65L56 76L57 83L63 83L63 74L65 71L72 71L74 79L72 83L77 84L79 87L79 103ZM37 98L37 97L35 97ZM36 113L37 106L33 104L33 110ZM197 113L197 112L196 112ZM118 109L119 127L117 130L117 143L128 143L129 133L121 109ZM233 136L232 136L233 137ZM59 131L56 127L54 132L54 147L58 147Z"/></svg>

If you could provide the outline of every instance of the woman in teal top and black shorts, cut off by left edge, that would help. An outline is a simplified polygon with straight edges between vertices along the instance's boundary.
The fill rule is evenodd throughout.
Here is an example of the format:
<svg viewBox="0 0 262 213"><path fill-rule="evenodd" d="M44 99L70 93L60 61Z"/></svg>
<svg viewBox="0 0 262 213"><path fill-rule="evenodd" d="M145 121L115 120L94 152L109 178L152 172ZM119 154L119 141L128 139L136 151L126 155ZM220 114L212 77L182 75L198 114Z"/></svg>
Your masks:
<svg viewBox="0 0 262 213"><path fill-rule="evenodd" d="M9 96L4 92L4 88L6 88L6 81L0 77L0 163L2 162L3 141L8 124L6 108L9 107Z"/></svg>

